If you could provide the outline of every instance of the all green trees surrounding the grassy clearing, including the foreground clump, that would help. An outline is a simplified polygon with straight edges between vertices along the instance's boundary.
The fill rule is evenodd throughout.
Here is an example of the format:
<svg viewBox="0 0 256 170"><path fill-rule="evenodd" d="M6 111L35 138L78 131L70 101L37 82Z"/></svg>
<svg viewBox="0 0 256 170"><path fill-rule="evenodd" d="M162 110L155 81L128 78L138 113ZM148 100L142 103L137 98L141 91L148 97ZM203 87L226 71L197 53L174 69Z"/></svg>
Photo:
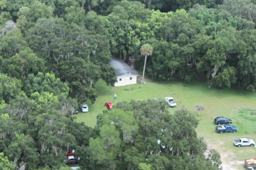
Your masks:
<svg viewBox="0 0 256 170"><path fill-rule="evenodd" d="M71 117L80 103L97 100L99 79L115 84L112 56L132 58L142 71L144 44L154 49L145 74L155 80L256 89L255 0L0 0L0 168L64 170L65 153L74 148L88 170L218 169L210 159L215 151L204 157L196 126L183 141L188 134L178 125L169 131L165 108L142 109L150 101L141 110L119 103L113 112L127 112L128 122L101 115L91 128ZM179 112L188 124L196 121ZM143 129L151 119L166 127ZM165 129L173 138L161 135Z"/></svg>

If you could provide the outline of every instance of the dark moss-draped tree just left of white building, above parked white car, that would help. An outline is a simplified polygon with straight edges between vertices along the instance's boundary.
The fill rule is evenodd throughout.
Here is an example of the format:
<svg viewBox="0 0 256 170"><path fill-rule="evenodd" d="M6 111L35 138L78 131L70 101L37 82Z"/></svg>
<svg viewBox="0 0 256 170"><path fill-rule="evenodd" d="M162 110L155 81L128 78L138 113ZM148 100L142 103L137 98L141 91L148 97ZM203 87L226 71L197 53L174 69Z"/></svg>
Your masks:
<svg viewBox="0 0 256 170"><path fill-rule="evenodd" d="M87 99L90 99L94 103L98 97L95 90L96 83L101 76L99 66L88 59L85 61L78 57L72 57L68 64L66 63L59 62L59 72L61 73L59 76L62 76L62 81L69 83L69 96L79 102L86 102Z"/></svg>

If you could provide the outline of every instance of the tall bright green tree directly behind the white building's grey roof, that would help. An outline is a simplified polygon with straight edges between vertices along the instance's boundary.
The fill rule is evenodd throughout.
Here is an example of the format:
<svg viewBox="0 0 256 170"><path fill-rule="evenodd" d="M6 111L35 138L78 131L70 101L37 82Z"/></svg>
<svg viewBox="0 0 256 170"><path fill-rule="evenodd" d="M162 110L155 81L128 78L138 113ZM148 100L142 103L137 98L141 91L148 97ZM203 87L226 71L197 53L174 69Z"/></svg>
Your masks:
<svg viewBox="0 0 256 170"><path fill-rule="evenodd" d="M111 47L114 56L119 56L126 63L130 56L137 53L140 46L138 37L139 23L146 22L150 11L138 1L122 0L116 5L112 13L108 15L109 32L111 34Z"/></svg>

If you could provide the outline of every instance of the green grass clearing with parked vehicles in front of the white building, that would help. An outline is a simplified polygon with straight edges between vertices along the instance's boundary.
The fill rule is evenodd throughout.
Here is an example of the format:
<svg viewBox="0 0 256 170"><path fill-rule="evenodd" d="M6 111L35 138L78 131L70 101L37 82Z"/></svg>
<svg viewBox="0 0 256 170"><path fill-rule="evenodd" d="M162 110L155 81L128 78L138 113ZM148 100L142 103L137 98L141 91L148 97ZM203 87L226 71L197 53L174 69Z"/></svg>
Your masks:
<svg viewBox="0 0 256 170"><path fill-rule="evenodd" d="M89 112L76 115L78 122L85 122L87 126L95 126L96 118L102 113L105 102L141 101L147 99L172 96L177 102L177 107L169 108L170 113L177 109L190 110L197 119L197 135L203 137L207 143L219 153L230 153L227 161L256 158L255 147L233 146L233 140L247 137L256 140L256 93L244 92L233 89L208 88L202 83L159 83L147 82L146 85L127 85L122 87L107 87L103 81L98 83L98 98L91 105L88 101ZM114 100L114 94L117 99ZM202 104L204 110L198 115L196 104ZM233 120L232 125L238 128L238 132L217 134L215 132L215 117L224 116ZM236 167L242 170L243 165Z"/></svg>

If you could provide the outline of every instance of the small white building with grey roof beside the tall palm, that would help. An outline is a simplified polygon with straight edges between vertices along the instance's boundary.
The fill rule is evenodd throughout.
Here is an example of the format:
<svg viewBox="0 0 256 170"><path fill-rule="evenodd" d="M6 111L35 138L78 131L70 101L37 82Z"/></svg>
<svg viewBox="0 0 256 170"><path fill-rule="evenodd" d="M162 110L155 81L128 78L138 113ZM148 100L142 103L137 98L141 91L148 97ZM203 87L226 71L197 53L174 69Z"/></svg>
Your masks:
<svg viewBox="0 0 256 170"><path fill-rule="evenodd" d="M136 73L135 70L130 68L124 61L112 57L110 61L110 66L116 69L118 82L115 83L115 86L137 84L138 74Z"/></svg>

